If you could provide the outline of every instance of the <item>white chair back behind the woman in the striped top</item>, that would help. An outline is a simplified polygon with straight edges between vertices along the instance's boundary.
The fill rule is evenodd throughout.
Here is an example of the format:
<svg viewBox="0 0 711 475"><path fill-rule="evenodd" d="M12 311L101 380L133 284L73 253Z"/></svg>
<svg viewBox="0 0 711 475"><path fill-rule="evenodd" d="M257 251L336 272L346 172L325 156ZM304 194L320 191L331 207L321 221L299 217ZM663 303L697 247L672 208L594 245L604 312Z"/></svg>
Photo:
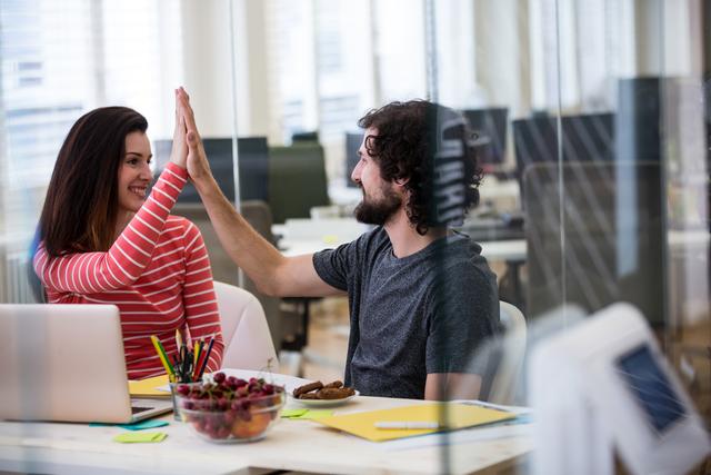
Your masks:
<svg viewBox="0 0 711 475"><path fill-rule="evenodd" d="M279 370L261 304L249 291L214 281L224 339L223 368Z"/></svg>

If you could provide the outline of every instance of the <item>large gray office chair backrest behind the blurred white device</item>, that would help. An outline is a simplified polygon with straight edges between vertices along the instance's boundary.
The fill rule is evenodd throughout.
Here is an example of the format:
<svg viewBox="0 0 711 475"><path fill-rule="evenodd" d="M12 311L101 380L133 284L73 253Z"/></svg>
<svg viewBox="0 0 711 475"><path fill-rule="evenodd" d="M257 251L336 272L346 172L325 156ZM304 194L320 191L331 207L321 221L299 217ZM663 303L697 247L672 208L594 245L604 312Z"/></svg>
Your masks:
<svg viewBox="0 0 711 475"><path fill-rule="evenodd" d="M659 164L537 164L524 189L530 318L563 303L593 313L625 300L664 324Z"/></svg>

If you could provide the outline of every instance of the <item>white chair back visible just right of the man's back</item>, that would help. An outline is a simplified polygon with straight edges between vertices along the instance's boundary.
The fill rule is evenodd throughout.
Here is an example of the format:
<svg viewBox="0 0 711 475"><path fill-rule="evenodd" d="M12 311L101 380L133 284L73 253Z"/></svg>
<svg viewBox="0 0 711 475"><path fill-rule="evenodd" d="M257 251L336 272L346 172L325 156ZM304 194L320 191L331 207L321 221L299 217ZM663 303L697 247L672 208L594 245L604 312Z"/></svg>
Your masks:
<svg viewBox="0 0 711 475"><path fill-rule="evenodd" d="M505 333L501 340L501 360L488 399L497 404L513 404L525 355L525 318L521 310L505 301L499 301L499 318Z"/></svg>

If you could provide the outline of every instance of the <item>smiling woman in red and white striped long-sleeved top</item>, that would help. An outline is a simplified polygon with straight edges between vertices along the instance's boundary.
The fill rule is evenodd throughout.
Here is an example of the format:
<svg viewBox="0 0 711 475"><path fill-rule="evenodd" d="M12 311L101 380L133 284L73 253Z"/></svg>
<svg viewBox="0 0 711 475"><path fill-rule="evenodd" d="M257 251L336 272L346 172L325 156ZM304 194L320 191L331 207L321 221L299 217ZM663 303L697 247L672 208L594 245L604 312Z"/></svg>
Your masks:
<svg viewBox="0 0 711 475"><path fill-rule="evenodd" d="M40 218L34 271L52 304L113 304L130 379L164 373L150 336L174 358L176 329L223 343L212 270L198 228L169 212L186 171L188 96L176 91L170 164L147 198L151 148L146 118L126 107L82 116L62 145ZM78 329L80 331L80 329Z"/></svg>

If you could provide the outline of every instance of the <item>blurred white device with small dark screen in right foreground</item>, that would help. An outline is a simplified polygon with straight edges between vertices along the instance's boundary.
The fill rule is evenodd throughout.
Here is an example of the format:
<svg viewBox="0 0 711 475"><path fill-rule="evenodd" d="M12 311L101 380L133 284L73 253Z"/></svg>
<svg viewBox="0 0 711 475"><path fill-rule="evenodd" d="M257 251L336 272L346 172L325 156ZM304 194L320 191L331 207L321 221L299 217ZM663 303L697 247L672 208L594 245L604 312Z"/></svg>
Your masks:
<svg viewBox="0 0 711 475"><path fill-rule="evenodd" d="M703 419L642 313L618 303L533 348L533 474L687 474L711 453ZM563 449L561 449L563 448Z"/></svg>

